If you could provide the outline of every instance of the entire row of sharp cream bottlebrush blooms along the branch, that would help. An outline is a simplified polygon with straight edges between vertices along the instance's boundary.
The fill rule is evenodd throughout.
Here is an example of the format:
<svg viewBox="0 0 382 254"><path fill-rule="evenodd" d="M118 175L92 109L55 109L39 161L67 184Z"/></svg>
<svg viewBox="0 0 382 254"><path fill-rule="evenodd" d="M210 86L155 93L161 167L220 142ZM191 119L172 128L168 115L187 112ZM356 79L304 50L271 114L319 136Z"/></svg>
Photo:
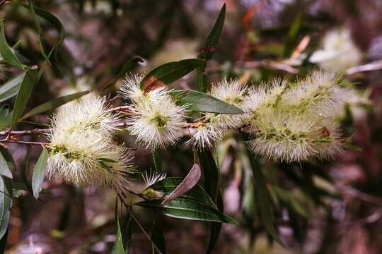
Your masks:
<svg viewBox="0 0 382 254"><path fill-rule="evenodd" d="M205 113L194 123L187 123L191 112L187 105L176 103L166 86L141 90L142 78L129 75L121 88L129 101L124 121L129 133L151 150L175 145L186 129L192 131L188 143L199 148L212 146L227 131L242 131L249 137L250 150L286 162L328 158L341 150L336 116L348 90L325 71L314 71L295 83L279 79L253 86L238 80L215 83L210 95L244 114ZM134 167L132 155L113 140L120 120L104 98L92 94L59 110L47 134L51 147L47 176L123 193ZM151 182L149 176L145 179Z"/></svg>

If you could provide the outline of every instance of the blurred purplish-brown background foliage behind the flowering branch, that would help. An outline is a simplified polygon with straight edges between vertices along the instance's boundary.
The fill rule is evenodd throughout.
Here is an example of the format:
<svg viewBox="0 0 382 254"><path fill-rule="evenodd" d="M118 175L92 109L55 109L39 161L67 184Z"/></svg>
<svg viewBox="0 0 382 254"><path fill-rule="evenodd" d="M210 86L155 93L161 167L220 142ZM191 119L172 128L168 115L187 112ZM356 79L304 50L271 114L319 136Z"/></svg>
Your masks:
<svg viewBox="0 0 382 254"><path fill-rule="evenodd" d="M347 70L345 81L366 91L364 101L349 104L342 117L347 136L359 150L347 150L332 162L283 164L248 153L243 138L229 134L216 144L213 154L221 171L221 191L226 214L240 226L224 224L215 253L381 253L381 68L382 2L379 0L114 0L35 1L64 25L63 47L52 59L28 102L33 109L48 99L88 90L114 97L121 85L115 80L133 56L144 61L135 71L148 71L168 61L196 57L221 6L226 22L209 61L209 80L239 78L258 84L274 76L295 80L315 68L308 56L320 49L325 32L350 31L362 54L359 64L376 64L374 71ZM41 66L39 38L45 49L57 43L57 29L33 16L16 1L0 1L8 44L17 44L20 57ZM4 80L18 71L6 66ZM123 77L122 77L123 78ZM174 88L197 90L195 74ZM367 99L370 97L370 100ZM13 99L2 102L9 107ZM118 100L115 104L118 104ZM342 109L339 109L339 111ZM48 115L33 116L48 123ZM35 128L23 122L19 129ZM121 141L137 147L121 133ZM44 140L44 137L24 137ZM40 155L40 147L9 145L16 164L14 179ZM135 163L141 170L154 167L148 150L137 147ZM168 176L185 176L192 165L190 146L163 152ZM282 248L266 233L255 206L253 170L261 169L270 193L274 226L285 244ZM208 182L204 183L208 186ZM115 195L93 188L45 181L51 195L34 200L27 192L13 201L6 253L110 253L115 241ZM136 213L146 229L151 214ZM163 217L168 253L204 253L209 237L207 224ZM133 228L131 253L147 253L150 243Z"/></svg>

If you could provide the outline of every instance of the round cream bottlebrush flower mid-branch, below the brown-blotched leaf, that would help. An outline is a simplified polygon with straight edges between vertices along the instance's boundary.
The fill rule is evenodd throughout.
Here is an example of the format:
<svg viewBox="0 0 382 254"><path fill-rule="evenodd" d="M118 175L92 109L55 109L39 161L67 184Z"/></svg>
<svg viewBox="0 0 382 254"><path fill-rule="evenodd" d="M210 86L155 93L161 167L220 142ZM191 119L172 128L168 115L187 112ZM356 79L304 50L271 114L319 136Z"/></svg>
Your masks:
<svg viewBox="0 0 382 254"><path fill-rule="evenodd" d="M127 118L127 130L146 148L174 145L182 136L187 110L178 106L166 87L149 92L140 89L143 77L128 76L122 95L132 102L134 113Z"/></svg>

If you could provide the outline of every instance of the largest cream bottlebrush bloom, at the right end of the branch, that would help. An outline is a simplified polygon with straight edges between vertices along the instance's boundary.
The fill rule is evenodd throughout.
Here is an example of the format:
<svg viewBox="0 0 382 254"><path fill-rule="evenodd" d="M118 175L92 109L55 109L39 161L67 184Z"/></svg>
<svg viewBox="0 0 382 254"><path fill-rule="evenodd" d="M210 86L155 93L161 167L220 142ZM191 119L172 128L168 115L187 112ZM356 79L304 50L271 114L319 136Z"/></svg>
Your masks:
<svg viewBox="0 0 382 254"><path fill-rule="evenodd" d="M328 158L341 150L335 111L344 107L347 90L335 76L315 71L296 83L274 80L253 90L259 101L253 108L249 147L282 161Z"/></svg>

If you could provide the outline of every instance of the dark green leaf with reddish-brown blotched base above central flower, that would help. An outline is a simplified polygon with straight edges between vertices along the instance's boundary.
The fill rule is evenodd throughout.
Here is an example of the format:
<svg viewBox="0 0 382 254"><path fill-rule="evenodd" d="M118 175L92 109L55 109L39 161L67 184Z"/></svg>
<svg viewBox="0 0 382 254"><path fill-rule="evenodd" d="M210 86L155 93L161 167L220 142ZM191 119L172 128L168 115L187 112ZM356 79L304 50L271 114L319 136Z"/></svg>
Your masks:
<svg viewBox="0 0 382 254"><path fill-rule="evenodd" d="M162 87L163 85L169 85L175 80L182 78L198 66L204 64L202 59L185 59L181 61L173 61L170 63L164 63L161 66L154 68L147 73L143 80L141 80L140 87L145 92Z"/></svg>

